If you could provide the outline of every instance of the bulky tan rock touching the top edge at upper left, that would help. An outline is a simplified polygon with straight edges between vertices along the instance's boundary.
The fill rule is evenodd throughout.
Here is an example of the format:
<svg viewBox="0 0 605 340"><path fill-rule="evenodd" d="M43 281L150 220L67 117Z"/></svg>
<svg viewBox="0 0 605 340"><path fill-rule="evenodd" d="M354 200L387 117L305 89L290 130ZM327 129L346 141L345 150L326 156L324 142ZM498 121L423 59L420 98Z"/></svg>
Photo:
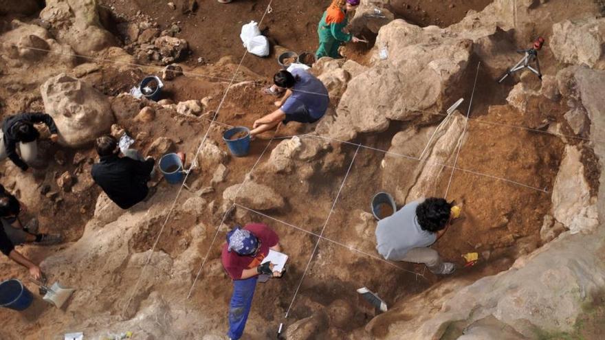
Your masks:
<svg viewBox="0 0 605 340"><path fill-rule="evenodd" d="M56 39L78 54L91 55L117 45L101 24L97 0L47 0L40 19L56 30Z"/></svg>

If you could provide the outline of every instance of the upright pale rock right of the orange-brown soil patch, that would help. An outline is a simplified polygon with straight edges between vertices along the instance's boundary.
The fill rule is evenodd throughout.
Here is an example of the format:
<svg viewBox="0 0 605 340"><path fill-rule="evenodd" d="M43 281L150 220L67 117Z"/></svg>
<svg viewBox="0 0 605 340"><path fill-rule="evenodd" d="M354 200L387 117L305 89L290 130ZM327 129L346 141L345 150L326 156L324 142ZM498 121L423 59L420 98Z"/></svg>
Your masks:
<svg viewBox="0 0 605 340"><path fill-rule="evenodd" d="M584 178L582 152L568 145L553 186L553 216L572 234L594 231L599 225L596 197Z"/></svg>

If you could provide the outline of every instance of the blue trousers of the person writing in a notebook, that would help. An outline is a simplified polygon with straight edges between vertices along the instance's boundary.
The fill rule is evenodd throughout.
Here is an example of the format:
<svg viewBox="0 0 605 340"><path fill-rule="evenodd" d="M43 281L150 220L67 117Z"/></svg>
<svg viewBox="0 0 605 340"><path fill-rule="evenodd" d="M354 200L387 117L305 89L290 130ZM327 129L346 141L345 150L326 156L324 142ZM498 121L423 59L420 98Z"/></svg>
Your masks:
<svg viewBox="0 0 605 340"><path fill-rule="evenodd" d="M227 332L228 337L233 340L239 339L243 334L252 307L257 279L257 276L253 276L249 279L233 281L233 295L229 304L229 332Z"/></svg>

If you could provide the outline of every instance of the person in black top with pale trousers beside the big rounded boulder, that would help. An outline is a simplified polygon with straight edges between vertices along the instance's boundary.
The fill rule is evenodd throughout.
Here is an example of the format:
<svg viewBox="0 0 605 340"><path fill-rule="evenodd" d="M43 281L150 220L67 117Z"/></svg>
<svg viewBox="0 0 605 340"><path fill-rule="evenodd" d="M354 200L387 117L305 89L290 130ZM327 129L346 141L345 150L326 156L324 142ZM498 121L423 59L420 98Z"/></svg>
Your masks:
<svg viewBox="0 0 605 340"><path fill-rule="evenodd" d="M6 117L2 122L0 131L0 160L10 158L14 165L21 170L28 170L28 163L36 161L38 157L38 145L36 139L40 133L34 127L35 123L44 123L48 126L50 140L58 141L58 131L52 117L46 113L20 113ZM17 154L17 144L21 157ZM23 158L23 159L22 159Z"/></svg>

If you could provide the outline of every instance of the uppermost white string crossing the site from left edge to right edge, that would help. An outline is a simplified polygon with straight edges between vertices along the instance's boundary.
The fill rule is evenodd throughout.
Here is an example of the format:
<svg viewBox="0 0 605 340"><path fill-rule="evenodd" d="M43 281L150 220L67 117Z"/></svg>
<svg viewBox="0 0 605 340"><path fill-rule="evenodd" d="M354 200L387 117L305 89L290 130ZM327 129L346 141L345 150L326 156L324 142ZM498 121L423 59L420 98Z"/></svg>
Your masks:
<svg viewBox="0 0 605 340"><path fill-rule="evenodd" d="M146 69L155 69L156 71L162 71L164 69L163 67L156 67L156 66L153 66L153 65L141 65L141 64L136 64L136 63L121 62L119 60L104 59L104 58L98 58L98 57L94 57L94 56L85 56L85 55L81 55L81 54L69 54L69 53L64 53L64 52L52 51L50 49L41 49L41 48L37 48L37 47L20 46L20 45L14 44L14 43L0 43L0 44L2 44L2 45L8 45L8 46L13 46L13 47L24 48L24 49L32 49L34 51L49 52L49 53L60 54L60 55L65 55L65 56L73 56L73 57L77 57L77 58L84 58L84 59L89 59L89 60L95 60L95 61L100 61L100 62L104 62L104 63L113 63L115 65L129 65L129 66L133 66L133 67L141 67L141 68L146 68ZM197 72L190 72L190 71L183 71L183 74L186 75L186 76L194 76L194 77L200 77L200 78L210 78L210 79L216 79L216 80L230 80L230 78L210 76L208 74L197 73ZM263 82L256 82L254 80L249 80L249 79L244 79L244 78L239 79L238 81L239 82L250 82L251 84L255 84L257 86L266 85ZM224 81L223 83L227 83L227 82ZM232 85L232 83L229 84L229 86L231 86L231 85ZM303 91L303 90L294 90L294 91L295 92L300 92L300 93L329 96L329 95L326 95L325 93L316 93L316 92ZM415 110L414 112L428 113L430 115L447 116L444 113L439 113L439 112L434 112L434 111L426 111L426 110ZM516 129L520 129L520 130L531 131L531 132L535 132L535 133L541 133L543 135L552 135L552 136L555 136L555 137L564 137L564 138L570 138L570 139L579 139L579 140L582 140L582 141L591 141L593 143L604 143L605 142L605 141L599 141L597 139L591 139L591 138L580 137L580 136L575 136L575 135L567 135L567 134L564 134L564 133L555 133L555 132L551 132L551 131L542 131L542 130L538 130L537 128L529 128L527 126L520 126L520 125L515 125L515 124L505 124L505 123L499 123L499 122L492 122L492 121L489 121L489 120L480 120L478 118L470 118L469 117L469 120L470 120L470 122L478 122L478 123L481 123L481 124L490 124L490 125L503 126L503 127L508 127L508 128L516 128Z"/></svg>

